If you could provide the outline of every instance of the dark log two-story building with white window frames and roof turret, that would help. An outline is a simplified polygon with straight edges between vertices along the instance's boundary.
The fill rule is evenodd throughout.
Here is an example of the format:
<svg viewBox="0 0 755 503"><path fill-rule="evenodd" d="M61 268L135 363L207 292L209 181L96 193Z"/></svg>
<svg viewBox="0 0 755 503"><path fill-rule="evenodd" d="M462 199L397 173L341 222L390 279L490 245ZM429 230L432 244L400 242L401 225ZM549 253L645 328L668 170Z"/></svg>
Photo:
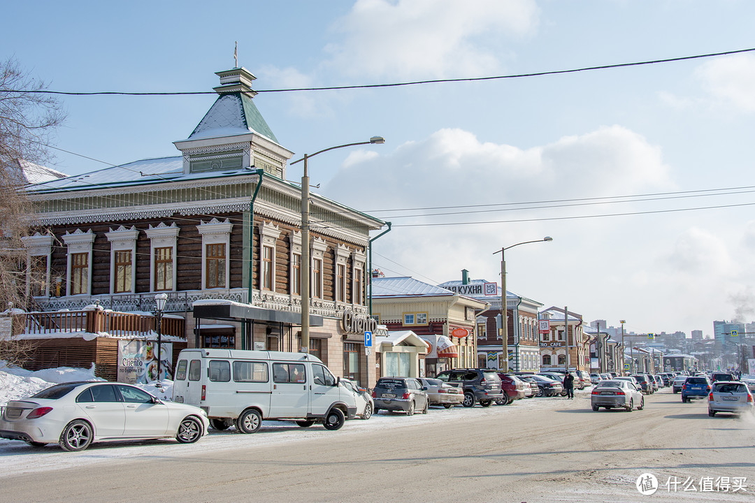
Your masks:
<svg viewBox="0 0 755 503"><path fill-rule="evenodd" d="M166 293L165 312L185 319L189 347L297 351L309 247L310 351L370 385L374 354L343 318L368 316L369 237L384 222L311 194L304 243L302 191L286 181L293 152L255 106L254 75L217 75L217 100L174 142L176 157L28 187L30 307L153 311Z"/></svg>

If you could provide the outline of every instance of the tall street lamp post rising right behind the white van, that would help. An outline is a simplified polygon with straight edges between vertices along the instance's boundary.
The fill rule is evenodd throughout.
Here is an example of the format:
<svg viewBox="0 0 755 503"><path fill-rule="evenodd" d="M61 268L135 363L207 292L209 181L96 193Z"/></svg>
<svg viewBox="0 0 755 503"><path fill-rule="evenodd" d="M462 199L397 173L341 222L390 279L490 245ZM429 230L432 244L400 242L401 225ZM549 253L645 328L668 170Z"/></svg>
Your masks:
<svg viewBox="0 0 755 503"><path fill-rule="evenodd" d="M301 177L301 343L299 348L301 353L310 352L310 174L307 170L307 160L329 150L370 143L380 145L385 143L385 139L382 136L372 136L367 142L346 143L328 147L328 149L319 150L311 155L304 154L303 158L291 163L291 165L294 165L297 162L304 161L304 175Z"/></svg>

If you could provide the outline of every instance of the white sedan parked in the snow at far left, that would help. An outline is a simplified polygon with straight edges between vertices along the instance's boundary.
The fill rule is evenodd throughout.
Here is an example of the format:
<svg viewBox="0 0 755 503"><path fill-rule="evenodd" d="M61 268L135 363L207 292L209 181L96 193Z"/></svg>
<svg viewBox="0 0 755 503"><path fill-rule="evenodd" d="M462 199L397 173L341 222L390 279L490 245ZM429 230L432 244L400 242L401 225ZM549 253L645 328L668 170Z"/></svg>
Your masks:
<svg viewBox="0 0 755 503"><path fill-rule="evenodd" d="M32 446L60 443L81 451L103 440L175 437L193 443L207 432L205 412L164 402L119 382L66 382L24 400L11 400L0 416L0 437Z"/></svg>

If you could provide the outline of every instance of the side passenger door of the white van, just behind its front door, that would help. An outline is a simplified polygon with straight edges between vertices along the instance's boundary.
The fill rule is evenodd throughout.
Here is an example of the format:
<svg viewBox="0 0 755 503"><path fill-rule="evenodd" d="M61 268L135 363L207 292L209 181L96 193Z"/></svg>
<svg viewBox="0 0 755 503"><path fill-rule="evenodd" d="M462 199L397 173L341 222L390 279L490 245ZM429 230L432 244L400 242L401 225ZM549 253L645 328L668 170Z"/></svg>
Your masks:
<svg viewBox="0 0 755 503"><path fill-rule="evenodd" d="M304 363L273 362L273 393L270 394L271 418L304 418L310 408Z"/></svg>

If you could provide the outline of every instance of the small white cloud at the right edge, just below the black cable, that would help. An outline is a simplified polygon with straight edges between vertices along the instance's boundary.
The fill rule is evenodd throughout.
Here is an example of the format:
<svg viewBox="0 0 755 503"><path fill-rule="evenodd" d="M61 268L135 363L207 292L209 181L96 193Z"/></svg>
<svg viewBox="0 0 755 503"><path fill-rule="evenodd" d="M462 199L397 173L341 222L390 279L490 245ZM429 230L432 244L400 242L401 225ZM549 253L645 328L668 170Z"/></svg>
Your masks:
<svg viewBox="0 0 755 503"><path fill-rule="evenodd" d="M714 102L755 112L755 56L737 54L703 63L695 72Z"/></svg>

